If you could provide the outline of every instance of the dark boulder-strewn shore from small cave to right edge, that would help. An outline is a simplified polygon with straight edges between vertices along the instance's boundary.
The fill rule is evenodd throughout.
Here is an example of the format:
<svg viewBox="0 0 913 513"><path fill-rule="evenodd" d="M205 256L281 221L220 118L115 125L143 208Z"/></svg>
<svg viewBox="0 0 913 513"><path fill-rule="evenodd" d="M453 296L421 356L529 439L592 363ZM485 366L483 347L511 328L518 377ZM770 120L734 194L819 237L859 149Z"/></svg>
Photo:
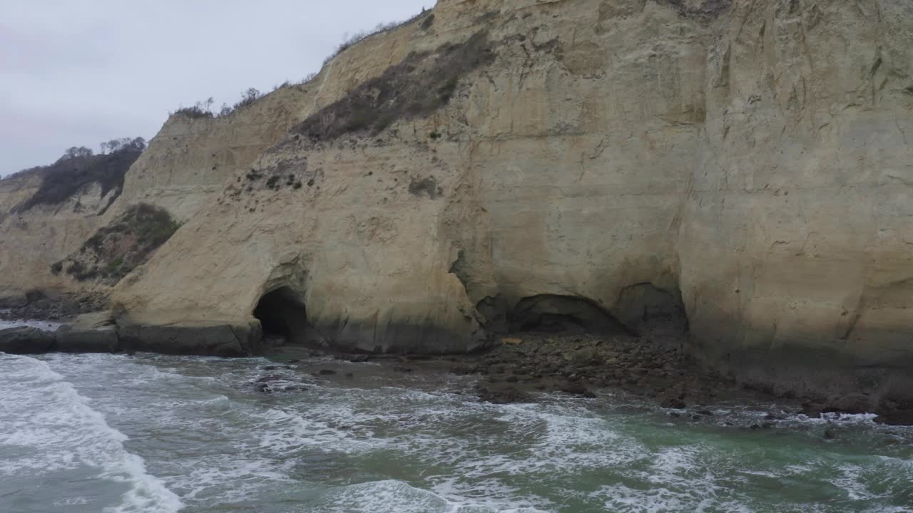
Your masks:
<svg viewBox="0 0 913 513"><path fill-rule="evenodd" d="M823 418L826 414L877 414L876 422L913 425L913 405L878 404L865 396L775 394L744 385L703 368L687 355L684 335L636 337L591 334L516 333L493 347L456 356L367 355L310 350L310 357L376 361L396 372L451 372L476 375L474 393L489 403L529 403L536 393L567 393L593 398L597 392L624 393L670 409L673 416L711 416L709 405L721 401L778 403L791 414ZM300 348L297 348L300 349ZM278 348L276 361L298 352ZM297 360L291 360L295 362ZM752 428L771 428L778 414Z"/></svg>

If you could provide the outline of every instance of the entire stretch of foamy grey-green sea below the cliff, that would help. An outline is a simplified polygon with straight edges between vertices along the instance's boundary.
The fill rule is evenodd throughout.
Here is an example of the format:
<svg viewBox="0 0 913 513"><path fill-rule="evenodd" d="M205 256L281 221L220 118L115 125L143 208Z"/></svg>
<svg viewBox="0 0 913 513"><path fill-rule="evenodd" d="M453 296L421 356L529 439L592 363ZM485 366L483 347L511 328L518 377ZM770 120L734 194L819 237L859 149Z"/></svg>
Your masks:
<svg viewBox="0 0 913 513"><path fill-rule="evenodd" d="M445 372L274 366L0 353L0 511L913 511L913 430L866 415L752 429L744 404L494 405Z"/></svg>

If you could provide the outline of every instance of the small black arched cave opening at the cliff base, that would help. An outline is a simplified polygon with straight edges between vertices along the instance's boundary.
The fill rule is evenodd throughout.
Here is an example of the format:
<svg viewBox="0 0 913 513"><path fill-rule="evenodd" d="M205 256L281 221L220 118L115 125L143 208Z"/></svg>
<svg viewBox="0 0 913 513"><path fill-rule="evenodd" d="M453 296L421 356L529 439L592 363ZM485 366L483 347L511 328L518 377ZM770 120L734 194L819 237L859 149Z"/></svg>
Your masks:
<svg viewBox="0 0 913 513"><path fill-rule="evenodd" d="M282 339L290 344L316 341L304 297L292 288L275 288L264 294L257 301L254 317L260 321L264 339Z"/></svg>

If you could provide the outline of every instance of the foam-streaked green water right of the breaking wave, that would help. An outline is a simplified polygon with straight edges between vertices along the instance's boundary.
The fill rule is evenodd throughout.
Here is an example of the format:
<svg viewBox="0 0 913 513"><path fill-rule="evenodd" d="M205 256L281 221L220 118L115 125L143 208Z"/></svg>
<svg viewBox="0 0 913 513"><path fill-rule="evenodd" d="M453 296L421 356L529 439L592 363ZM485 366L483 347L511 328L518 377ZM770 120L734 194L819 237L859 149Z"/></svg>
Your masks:
<svg viewBox="0 0 913 513"><path fill-rule="evenodd" d="M94 410L118 426L142 426L131 428L137 438L154 434L140 454L194 511L286 511L294 504L292 510L321 513L772 510L765 507L834 513L870 502L874 513L905 511L890 504L913 491L905 484L913 476L907 452L847 459L839 451L851 443L849 435L821 440L818 423L828 421L782 421L802 427L783 438L787 446L812 440L826 452L796 457L773 438L786 430L735 427L720 435L712 425L719 418L670 429L645 420L656 410L643 407L606 414L557 398L495 405L401 387L352 389L295 370L261 369L268 362L260 360L48 358L93 398ZM257 393L253 384L267 375L308 390ZM728 411L718 410L718 417ZM747 427L759 415L765 413L735 418ZM855 418L858 424L844 421L854 425L847 433L871 431L870 420ZM73 456L69 463L79 461ZM874 476L880 481L870 488ZM771 480L824 490L822 497L832 494L837 502L819 508L787 498L771 506L757 497ZM850 491L842 495L843 489Z"/></svg>

